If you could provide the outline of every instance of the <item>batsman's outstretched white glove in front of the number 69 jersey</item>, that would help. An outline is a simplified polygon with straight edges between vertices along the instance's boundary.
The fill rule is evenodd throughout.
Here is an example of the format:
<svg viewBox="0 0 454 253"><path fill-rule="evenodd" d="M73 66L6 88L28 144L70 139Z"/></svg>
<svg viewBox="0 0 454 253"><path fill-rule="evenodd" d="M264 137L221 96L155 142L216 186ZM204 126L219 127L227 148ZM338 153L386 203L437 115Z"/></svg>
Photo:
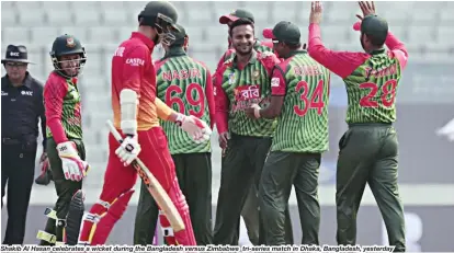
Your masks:
<svg viewBox="0 0 454 253"><path fill-rule="evenodd" d="M186 116L179 114L175 123L181 129L186 131L196 143L203 143L209 140L212 129L204 120L194 117L193 115Z"/></svg>

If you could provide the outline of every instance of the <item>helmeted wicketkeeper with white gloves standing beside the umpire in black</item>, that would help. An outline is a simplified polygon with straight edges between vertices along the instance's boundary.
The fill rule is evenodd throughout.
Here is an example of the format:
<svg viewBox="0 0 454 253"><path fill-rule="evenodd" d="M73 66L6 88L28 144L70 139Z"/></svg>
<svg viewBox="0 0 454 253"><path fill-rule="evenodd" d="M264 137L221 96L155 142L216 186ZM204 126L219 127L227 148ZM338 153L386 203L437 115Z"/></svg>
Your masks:
<svg viewBox="0 0 454 253"><path fill-rule="evenodd" d="M75 244L82 215L80 189L89 170L84 161L80 93L77 87L78 76L87 61L86 50L76 37L61 35L54 41L50 59L55 70L44 87L46 150L58 199L54 209L46 209L45 214L49 218L45 230L38 231L37 239L41 239L41 245L55 245L64 244L66 238L76 238L71 243ZM80 208L80 214L71 218L68 212L72 198L79 200L76 208Z"/></svg>

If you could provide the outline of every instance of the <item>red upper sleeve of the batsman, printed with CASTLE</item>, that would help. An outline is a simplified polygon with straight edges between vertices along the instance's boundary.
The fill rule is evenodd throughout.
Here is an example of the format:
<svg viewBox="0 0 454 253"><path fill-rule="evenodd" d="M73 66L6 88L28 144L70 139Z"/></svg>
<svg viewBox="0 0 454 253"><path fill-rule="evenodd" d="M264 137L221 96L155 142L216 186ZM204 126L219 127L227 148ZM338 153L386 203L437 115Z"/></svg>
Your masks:
<svg viewBox="0 0 454 253"><path fill-rule="evenodd" d="M146 65L152 64L151 55L145 46L136 46L124 57L122 89L130 89L140 95L140 83Z"/></svg>

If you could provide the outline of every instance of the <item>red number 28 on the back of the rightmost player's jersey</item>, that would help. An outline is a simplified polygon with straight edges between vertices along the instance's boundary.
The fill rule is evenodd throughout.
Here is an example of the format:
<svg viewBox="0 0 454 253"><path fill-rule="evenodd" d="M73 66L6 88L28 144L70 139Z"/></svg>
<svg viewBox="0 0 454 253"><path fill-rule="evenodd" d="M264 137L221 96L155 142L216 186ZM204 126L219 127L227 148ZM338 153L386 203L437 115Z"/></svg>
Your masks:
<svg viewBox="0 0 454 253"><path fill-rule="evenodd" d="M396 99L396 88L397 81L395 79L391 79L382 85L382 96L379 99L385 107L389 107L394 104ZM376 100L374 101L375 95L378 92L378 85L373 82L364 82L360 84L360 89L371 89L366 96L361 97L360 105L362 107L378 107L378 102Z"/></svg>

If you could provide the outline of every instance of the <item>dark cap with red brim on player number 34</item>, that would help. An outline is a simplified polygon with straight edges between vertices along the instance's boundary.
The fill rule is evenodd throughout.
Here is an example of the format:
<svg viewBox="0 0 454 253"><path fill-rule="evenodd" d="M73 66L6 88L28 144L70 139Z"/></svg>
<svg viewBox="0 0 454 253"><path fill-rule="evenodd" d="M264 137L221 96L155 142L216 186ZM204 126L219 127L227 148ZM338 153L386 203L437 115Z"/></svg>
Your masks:
<svg viewBox="0 0 454 253"><path fill-rule="evenodd" d="M281 21L274 28L263 30L263 37L296 45L300 43L302 34L298 26L294 23Z"/></svg>

